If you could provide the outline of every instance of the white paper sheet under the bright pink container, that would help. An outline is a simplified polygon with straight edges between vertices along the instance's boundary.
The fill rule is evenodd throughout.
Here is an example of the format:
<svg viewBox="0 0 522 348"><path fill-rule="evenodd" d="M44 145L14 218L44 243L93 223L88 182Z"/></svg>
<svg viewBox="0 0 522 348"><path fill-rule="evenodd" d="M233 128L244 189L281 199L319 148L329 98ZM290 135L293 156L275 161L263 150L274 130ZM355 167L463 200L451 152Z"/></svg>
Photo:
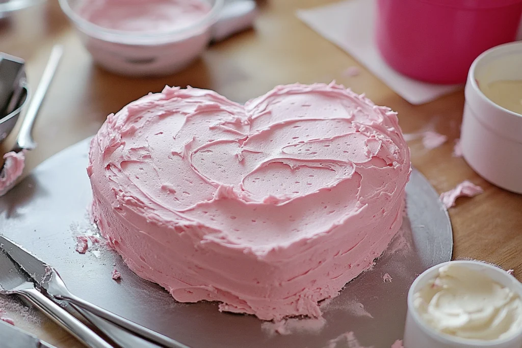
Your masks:
<svg viewBox="0 0 522 348"><path fill-rule="evenodd" d="M390 68L374 41L375 0L346 0L327 6L298 10L296 15L325 39L364 64L411 104L424 104L453 92L459 85L433 85L413 80Z"/></svg>

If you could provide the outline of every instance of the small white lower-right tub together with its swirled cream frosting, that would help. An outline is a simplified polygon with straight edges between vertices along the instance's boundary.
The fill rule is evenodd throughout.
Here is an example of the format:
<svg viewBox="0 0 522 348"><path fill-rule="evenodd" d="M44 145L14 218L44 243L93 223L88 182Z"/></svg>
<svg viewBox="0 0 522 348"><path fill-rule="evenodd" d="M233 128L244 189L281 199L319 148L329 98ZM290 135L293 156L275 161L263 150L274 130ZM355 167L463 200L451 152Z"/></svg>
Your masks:
<svg viewBox="0 0 522 348"><path fill-rule="evenodd" d="M408 293L406 348L520 348L522 285L480 261L425 271Z"/></svg>

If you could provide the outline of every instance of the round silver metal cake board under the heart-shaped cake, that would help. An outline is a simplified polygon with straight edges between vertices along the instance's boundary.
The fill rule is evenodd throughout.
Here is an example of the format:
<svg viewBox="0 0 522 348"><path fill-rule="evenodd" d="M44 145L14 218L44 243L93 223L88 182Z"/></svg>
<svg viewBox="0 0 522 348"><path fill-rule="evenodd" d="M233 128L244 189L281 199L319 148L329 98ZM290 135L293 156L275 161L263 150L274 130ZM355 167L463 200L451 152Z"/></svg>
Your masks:
<svg viewBox="0 0 522 348"><path fill-rule="evenodd" d="M452 256L448 213L426 178L414 170L406 186L408 219L373 270L323 306L323 325L312 322L309 329L274 334L269 323L254 316L220 313L217 303L174 301L159 285L138 278L112 250L75 251L76 235L97 232L87 214L89 140L43 162L0 198L0 232L54 266L76 295L194 348L322 348L347 332L361 346L389 348L402 339L413 279ZM122 274L120 282L111 278L114 268ZM391 283L383 280L386 273ZM337 340L334 346L353 343Z"/></svg>

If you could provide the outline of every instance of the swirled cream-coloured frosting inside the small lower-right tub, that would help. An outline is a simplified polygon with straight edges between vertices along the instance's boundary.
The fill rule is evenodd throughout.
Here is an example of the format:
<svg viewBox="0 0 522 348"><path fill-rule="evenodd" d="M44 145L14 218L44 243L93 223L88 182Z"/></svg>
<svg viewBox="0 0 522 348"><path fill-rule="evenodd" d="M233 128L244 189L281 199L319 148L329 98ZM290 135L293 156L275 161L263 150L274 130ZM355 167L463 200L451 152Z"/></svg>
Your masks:
<svg viewBox="0 0 522 348"><path fill-rule="evenodd" d="M496 340L522 330L522 300L488 275L447 265L414 295L413 305L435 330L465 339Z"/></svg>

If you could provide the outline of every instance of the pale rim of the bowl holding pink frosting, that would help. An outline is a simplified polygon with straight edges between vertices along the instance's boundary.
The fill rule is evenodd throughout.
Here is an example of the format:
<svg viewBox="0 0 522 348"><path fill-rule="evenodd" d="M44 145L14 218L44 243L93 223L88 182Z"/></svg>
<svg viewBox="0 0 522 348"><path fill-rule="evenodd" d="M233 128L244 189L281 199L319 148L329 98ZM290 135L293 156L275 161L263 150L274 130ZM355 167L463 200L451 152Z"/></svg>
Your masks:
<svg viewBox="0 0 522 348"><path fill-rule="evenodd" d="M210 11L191 25L176 30L149 33L103 28L78 15L70 7L68 0L58 0L58 3L60 3L62 11L74 23L76 28L92 38L120 44L158 45L185 40L206 31L218 20L223 7L223 0L212 1L213 4Z"/></svg>

